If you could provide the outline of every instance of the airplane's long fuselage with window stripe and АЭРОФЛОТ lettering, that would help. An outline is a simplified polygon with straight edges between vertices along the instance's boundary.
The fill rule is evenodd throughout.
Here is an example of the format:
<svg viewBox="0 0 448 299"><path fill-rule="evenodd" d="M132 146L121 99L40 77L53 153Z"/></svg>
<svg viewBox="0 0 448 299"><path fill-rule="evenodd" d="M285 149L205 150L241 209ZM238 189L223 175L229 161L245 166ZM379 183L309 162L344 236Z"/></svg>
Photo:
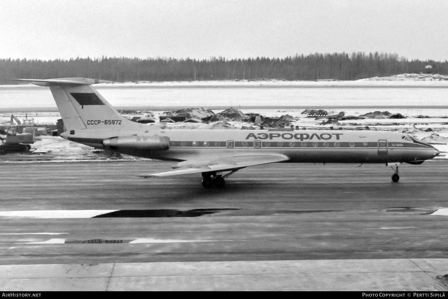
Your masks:
<svg viewBox="0 0 448 299"><path fill-rule="evenodd" d="M146 125L150 127L151 125ZM394 163L424 161L439 152L429 144L415 143L404 133L351 130L165 130L120 132L135 144L149 136L167 136L168 150L120 150L123 154L159 160L218 159L235 155L283 154L295 163ZM155 130L154 130L155 129ZM148 132L148 133L146 133ZM102 140L89 138L89 130L67 139L103 147ZM137 146L135 148L138 148Z"/></svg>

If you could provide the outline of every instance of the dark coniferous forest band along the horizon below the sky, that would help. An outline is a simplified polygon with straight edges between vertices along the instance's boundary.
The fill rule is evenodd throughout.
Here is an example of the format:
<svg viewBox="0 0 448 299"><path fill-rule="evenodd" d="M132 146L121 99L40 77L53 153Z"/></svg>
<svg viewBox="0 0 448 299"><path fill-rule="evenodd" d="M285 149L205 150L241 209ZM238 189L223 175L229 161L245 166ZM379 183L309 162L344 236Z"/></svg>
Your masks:
<svg viewBox="0 0 448 299"><path fill-rule="evenodd" d="M86 77L111 81L191 80L357 80L374 76L425 72L448 75L448 61L408 60L397 54L353 52L289 56L283 59L164 59L164 58L76 58L0 59L0 84L7 78L50 79Z"/></svg>

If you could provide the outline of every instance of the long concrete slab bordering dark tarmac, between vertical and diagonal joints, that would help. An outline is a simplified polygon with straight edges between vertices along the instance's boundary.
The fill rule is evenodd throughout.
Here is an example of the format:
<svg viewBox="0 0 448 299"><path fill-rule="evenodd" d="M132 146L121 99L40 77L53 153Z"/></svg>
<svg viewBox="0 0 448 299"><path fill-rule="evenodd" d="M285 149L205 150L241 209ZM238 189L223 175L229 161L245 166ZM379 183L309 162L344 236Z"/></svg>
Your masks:
<svg viewBox="0 0 448 299"><path fill-rule="evenodd" d="M448 260L447 260L448 261ZM116 263L112 277L422 272L409 259Z"/></svg>

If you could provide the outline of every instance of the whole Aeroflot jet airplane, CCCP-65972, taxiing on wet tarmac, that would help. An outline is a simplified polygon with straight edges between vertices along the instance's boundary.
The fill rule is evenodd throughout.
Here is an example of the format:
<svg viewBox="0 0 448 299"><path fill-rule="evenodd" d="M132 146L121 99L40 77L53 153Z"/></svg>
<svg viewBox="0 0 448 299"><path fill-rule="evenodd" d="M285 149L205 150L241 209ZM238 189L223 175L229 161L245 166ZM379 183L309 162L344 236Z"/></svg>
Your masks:
<svg viewBox="0 0 448 299"><path fill-rule="evenodd" d="M422 164L439 155L428 143L388 131L349 130L167 130L122 117L91 85L111 81L59 78L30 81L49 87L67 131L64 139L126 155L171 160L173 170L140 174L167 177L202 174L205 188L223 187L225 177L254 165L289 163Z"/></svg>

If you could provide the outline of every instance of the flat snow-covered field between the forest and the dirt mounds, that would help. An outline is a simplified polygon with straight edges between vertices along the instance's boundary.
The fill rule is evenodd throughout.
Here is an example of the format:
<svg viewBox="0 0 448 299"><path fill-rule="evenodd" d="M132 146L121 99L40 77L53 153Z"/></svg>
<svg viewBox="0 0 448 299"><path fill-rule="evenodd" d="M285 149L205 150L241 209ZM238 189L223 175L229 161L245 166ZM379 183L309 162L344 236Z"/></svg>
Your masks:
<svg viewBox="0 0 448 299"><path fill-rule="evenodd" d="M418 74L356 81L125 82L95 84L95 88L113 106L150 109L168 106L321 106L323 109L330 106L448 106L448 80ZM56 108L49 88L33 84L0 85L0 110L30 107Z"/></svg>

